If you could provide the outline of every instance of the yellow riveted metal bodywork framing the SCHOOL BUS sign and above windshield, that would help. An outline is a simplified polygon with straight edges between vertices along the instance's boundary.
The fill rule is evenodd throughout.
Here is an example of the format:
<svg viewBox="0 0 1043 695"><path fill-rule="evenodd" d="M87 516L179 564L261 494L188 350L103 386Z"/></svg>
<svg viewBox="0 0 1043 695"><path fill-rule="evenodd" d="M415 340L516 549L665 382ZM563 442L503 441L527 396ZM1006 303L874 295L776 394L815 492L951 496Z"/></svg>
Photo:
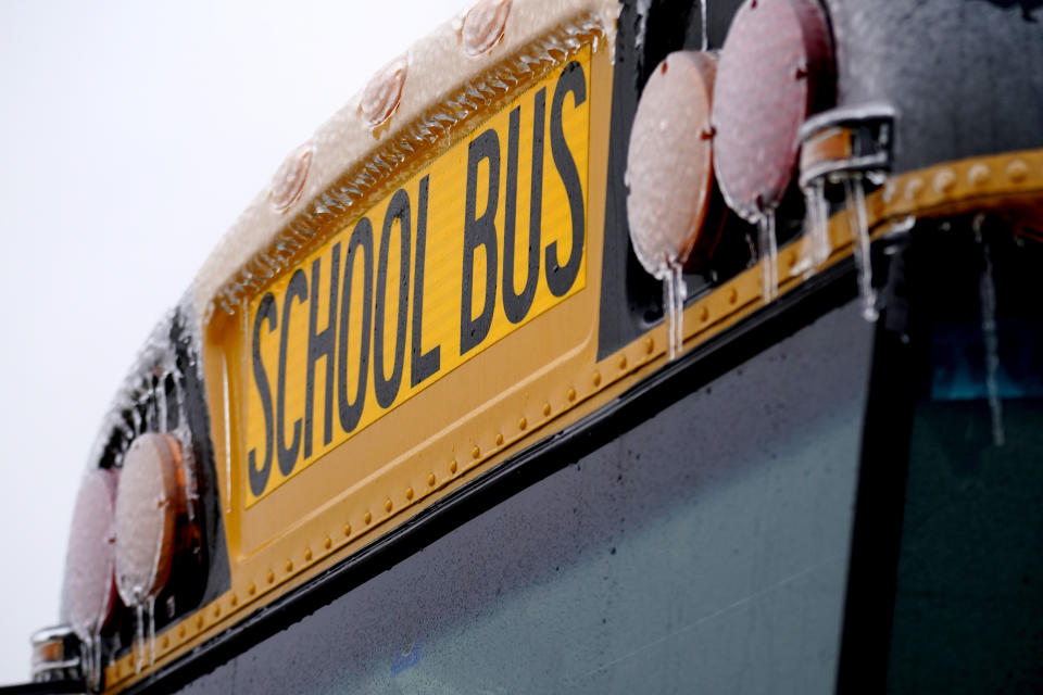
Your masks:
<svg viewBox="0 0 1043 695"><path fill-rule="evenodd" d="M582 60L589 61L583 62L589 65L589 111L583 116L589 118L589 142L606 143L612 65L604 46L583 51L588 58ZM550 78L556 74L557 71ZM526 96L532 93L531 88L532 84L520 86L528 90L520 97L523 105ZM486 127L500 132L501 116L508 112L510 109L491 115L488 122L463 128L460 141L472 141ZM579 125L574 126L577 130L570 132L581 130ZM575 144L569 139L569 148ZM525 146L520 151L525 151ZM607 148L590 147L586 154L586 281L577 282L575 291L563 298L552 301L544 296L542 308L522 326L508 326L502 315L498 316L501 323L476 349L477 358L461 359L457 355L452 374L403 392L387 408L391 412L367 420L365 427L360 425L353 435L331 444L322 457L315 455L311 465L296 470L282 484L266 488L257 498L251 498L247 491L247 452L256 444L247 434L251 427L250 406L243 408L241 404L249 403L251 397L247 378L250 321L256 317L264 292L249 300L249 311L230 318L214 315L204 336L204 368L231 589L158 635L158 666L305 584L526 446L594 413L666 364L662 325L616 353L600 361L596 357ZM433 172L438 166L436 162L424 170ZM410 187L416 186L423 176L414 172L404 184L411 193L415 189ZM519 179L519 208L522 188ZM908 215L1039 211L1041 202L1043 150L977 157L913 172L895 177L867 197L875 238L887 233L889 222ZM373 214L375 228L376 220L382 219L382 205L386 202L367 213ZM499 220L498 228L502 228ZM844 212L830 218L829 235L833 251L827 266L852 253L853 237ZM322 257L338 239L344 243L343 237L332 238L299 267L310 273L313 258ZM456 248L455 252L461 250ZM805 258L809 255L809 243L804 238L780 250L780 294L803 282ZM455 264L452 258L443 262ZM429 278L435 271L430 273ZM759 309L761 277L759 267L747 269L689 304L684 309L684 350L703 344ZM279 296L285 298L287 282L286 276L277 280L271 288L273 295L282 292ZM319 305L319 314L323 306ZM450 314L455 311L458 305ZM451 318L443 316L431 321L433 325ZM306 325L303 330L307 330ZM291 350L300 353L301 345L296 343ZM271 350L271 345L262 346L262 354L268 359L271 354L265 351ZM322 369L316 372L319 382ZM135 673L133 655L125 655L105 669L110 691L140 677Z"/></svg>

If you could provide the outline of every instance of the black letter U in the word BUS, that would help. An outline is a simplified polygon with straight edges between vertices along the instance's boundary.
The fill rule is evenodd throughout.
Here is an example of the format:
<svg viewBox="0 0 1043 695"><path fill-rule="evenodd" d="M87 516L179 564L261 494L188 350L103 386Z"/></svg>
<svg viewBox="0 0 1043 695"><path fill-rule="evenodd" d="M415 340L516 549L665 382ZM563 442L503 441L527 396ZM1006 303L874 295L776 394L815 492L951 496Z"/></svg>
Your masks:
<svg viewBox="0 0 1043 695"><path fill-rule="evenodd" d="M503 313L517 324L525 318L536 296L540 279L540 232L543 227L543 129L546 114L546 88L536 93L532 112L532 180L529 186L529 255L522 292L514 291L515 189L518 168L518 109L511 112L507 144L507 193L503 229Z"/></svg>

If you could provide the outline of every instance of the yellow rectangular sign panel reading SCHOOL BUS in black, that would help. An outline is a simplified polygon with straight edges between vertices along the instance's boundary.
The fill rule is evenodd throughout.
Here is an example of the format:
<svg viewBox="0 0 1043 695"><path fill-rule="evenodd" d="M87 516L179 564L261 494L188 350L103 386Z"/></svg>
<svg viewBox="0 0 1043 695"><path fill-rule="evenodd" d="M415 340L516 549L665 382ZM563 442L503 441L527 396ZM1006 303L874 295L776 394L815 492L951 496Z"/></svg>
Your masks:
<svg viewBox="0 0 1043 695"><path fill-rule="evenodd" d="M590 49L248 306L246 504L587 282Z"/></svg>

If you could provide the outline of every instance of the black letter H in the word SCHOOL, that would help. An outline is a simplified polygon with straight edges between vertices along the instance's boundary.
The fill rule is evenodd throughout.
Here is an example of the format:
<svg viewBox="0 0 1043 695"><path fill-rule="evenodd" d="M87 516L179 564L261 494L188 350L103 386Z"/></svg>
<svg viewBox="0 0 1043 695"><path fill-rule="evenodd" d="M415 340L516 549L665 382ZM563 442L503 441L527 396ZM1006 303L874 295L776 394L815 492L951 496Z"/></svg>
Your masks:
<svg viewBox="0 0 1043 695"><path fill-rule="evenodd" d="M326 328L315 330L318 285L323 260L312 263L312 302L307 312L307 379L304 389L304 458L312 456L312 415L315 409L315 363L326 357L326 409L323 412L323 445L334 440L334 348L337 344L337 288L340 279L340 244L334 244L329 264L329 317Z"/></svg>

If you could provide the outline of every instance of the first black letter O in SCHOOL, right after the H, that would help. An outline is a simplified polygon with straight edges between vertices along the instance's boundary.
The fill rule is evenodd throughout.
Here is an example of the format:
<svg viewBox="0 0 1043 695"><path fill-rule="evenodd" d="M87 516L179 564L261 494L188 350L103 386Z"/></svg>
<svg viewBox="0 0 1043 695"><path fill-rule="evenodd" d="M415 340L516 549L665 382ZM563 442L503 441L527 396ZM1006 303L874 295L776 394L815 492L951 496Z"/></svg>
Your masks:
<svg viewBox="0 0 1043 695"><path fill-rule="evenodd" d="M362 328L359 331L359 383L355 401L348 400L348 329L351 326L351 285L355 268L355 255L362 249L363 280ZM363 217L351 232L348 253L344 255L344 282L340 298L340 338L337 341L337 403L340 427L344 433L359 426L362 408L366 404L366 381L369 376L369 326L373 319L373 225Z"/></svg>

